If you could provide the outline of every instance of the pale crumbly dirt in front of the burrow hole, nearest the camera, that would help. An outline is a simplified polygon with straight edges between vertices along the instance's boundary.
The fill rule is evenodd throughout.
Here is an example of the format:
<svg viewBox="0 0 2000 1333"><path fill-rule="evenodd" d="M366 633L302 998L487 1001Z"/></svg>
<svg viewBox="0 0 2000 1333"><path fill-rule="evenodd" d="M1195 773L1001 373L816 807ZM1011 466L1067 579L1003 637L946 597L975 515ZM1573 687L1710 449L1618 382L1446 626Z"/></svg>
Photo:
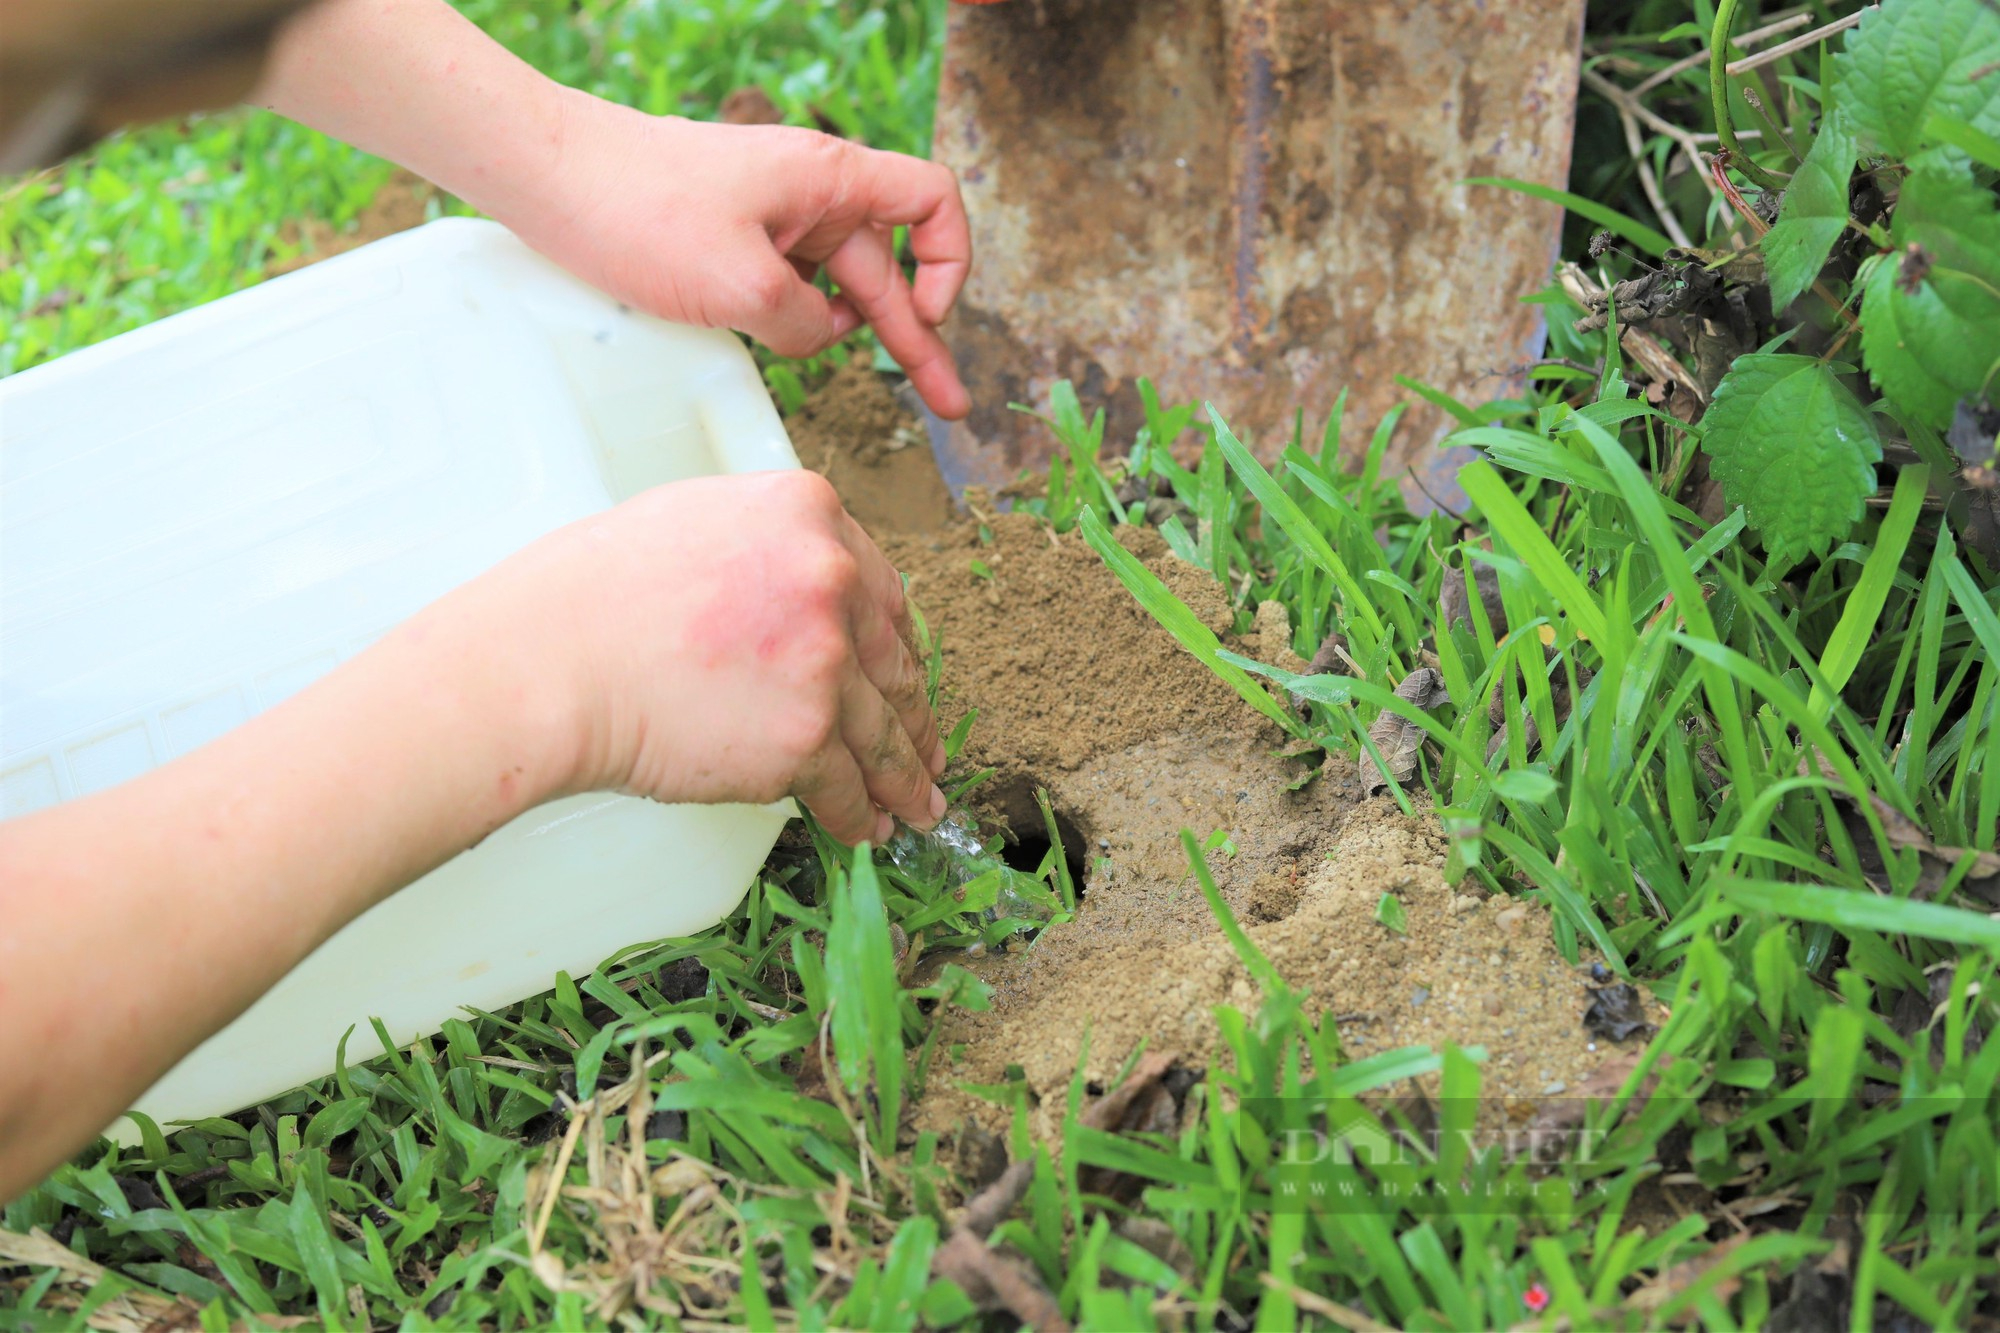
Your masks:
<svg viewBox="0 0 2000 1333"><path fill-rule="evenodd" d="M1238 845L1270 835L1284 831L1252 827ZM1154 837L1164 847L1166 831ZM1324 843L1330 851L1318 851ZM1588 973L1556 953L1546 913L1456 893L1440 873L1446 849L1430 821L1376 799L1354 807L1324 843L1290 859L1300 877L1290 901L1254 889L1236 897L1252 913L1280 907L1276 921L1248 919L1246 933L1288 985L1312 997L1314 1011L1336 1017L1350 1057L1410 1045L1484 1047L1482 1093L1494 1099L1486 1123L1526 1121L1542 1099L1576 1089L1604 1063L1582 1027ZM1210 853L1210 863L1224 871L1228 859ZM1140 1047L1204 1069L1218 1053L1216 1005L1256 1013L1258 989L1228 941L1212 925L1190 929L1186 909L1206 919L1192 877L1124 885L1094 877L1088 893L1124 899L1112 909L1122 917L1114 929L1102 925L1106 907L1086 897L1076 921L1030 949L972 965L996 985L994 1007L948 1019L944 1043L960 1059L932 1079L920 1125L950 1131L970 1119L1000 1129L1006 1111L956 1085L1004 1083L1018 1065L1038 1099L1036 1129L1054 1141L1078 1061L1086 1079L1106 1085ZM1132 921L1148 899L1176 893L1172 907L1182 911L1162 913L1150 929ZM1402 903L1406 933L1376 921L1384 893ZM1436 1091L1434 1079L1422 1083Z"/></svg>

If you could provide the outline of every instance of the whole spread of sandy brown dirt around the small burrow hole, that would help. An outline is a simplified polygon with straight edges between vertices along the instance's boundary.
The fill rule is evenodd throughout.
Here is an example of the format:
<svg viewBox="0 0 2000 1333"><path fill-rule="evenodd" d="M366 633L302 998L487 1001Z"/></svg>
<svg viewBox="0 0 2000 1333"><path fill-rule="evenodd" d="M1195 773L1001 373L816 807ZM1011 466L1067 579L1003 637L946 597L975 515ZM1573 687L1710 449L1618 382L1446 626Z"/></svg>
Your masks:
<svg viewBox="0 0 2000 1333"><path fill-rule="evenodd" d="M880 436L862 436L862 448L868 438ZM842 466L854 450L836 440L828 452L836 486L868 480ZM904 456L936 474L928 450ZM1032 859L1046 837L1034 793L1046 789L1084 885L1076 921L1030 947L924 961L920 975L970 967L994 985L994 1007L946 1019L954 1055L932 1071L920 1127L1000 1129L1006 1111L958 1085L1002 1083L1018 1065L1040 1099L1038 1129L1054 1139L1086 1041L1086 1075L1100 1083L1140 1045L1190 1069L1216 1057L1214 1007L1254 1011L1258 995L1188 871L1182 829L1214 843L1222 897L1286 981L1336 1015L1350 1055L1486 1047L1486 1093L1520 1099L1504 1109L1512 1115L1604 1061L1582 1027L1588 973L1556 953L1540 907L1454 891L1436 823L1366 801L1352 765L1328 761L1300 787L1306 771L1274 753L1282 737L1078 536L982 512L924 536L894 534L892 514L876 516L876 530L944 638L946 725L978 711L960 771L996 775L974 809ZM1230 632L1232 606L1206 570L1150 528L1120 528L1120 542ZM1284 638L1264 618L1232 644L1276 660ZM1402 905L1400 933L1376 921L1384 895Z"/></svg>

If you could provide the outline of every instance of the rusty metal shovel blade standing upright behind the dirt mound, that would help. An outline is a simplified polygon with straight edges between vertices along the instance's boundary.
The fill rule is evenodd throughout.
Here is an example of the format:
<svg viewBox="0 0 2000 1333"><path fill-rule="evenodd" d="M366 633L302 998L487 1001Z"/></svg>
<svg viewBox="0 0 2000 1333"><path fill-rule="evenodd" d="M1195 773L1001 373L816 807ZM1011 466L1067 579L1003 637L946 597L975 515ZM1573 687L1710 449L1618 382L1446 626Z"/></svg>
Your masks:
<svg viewBox="0 0 2000 1333"><path fill-rule="evenodd" d="M974 410L934 430L954 490L1042 466L1010 402L1056 380L1142 426L1136 380L1212 400L1266 458L1350 390L1346 446L1410 398L1520 390L1562 212L1584 0L1012 0L952 6L936 156L974 270L948 338ZM1450 426L1388 452L1452 502ZM1408 472L1414 468L1414 474ZM1420 482L1420 484L1418 484ZM1454 504L1456 508L1456 504Z"/></svg>

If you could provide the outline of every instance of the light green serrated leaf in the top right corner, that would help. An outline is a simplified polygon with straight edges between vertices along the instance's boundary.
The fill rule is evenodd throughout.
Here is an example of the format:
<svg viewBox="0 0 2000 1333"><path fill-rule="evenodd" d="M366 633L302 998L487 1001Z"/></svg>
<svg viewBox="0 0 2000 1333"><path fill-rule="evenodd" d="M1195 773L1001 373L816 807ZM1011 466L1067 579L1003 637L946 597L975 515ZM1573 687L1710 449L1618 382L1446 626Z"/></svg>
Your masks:
<svg viewBox="0 0 2000 1333"><path fill-rule="evenodd" d="M1986 0L1884 0L1834 58L1834 98L1860 138L1890 156L1958 158L1950 146L1926 148L1924 126L1938 114L2000 134L2000 80L1974 78L1994 62L2000 12Z"/></svg>

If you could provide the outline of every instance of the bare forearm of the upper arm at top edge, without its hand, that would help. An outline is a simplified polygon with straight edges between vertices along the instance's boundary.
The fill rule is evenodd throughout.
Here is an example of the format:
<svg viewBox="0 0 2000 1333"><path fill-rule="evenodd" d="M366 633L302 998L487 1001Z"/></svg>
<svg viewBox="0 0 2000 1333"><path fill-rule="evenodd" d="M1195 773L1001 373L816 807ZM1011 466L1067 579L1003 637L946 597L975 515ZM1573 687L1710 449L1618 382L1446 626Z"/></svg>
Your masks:
<svg viewBox="0 0 2000 1333"><path fill-rule="evenodd" d="M446 0L322 0L250 100L510 220L546 202L570 94Z"/></svg>

